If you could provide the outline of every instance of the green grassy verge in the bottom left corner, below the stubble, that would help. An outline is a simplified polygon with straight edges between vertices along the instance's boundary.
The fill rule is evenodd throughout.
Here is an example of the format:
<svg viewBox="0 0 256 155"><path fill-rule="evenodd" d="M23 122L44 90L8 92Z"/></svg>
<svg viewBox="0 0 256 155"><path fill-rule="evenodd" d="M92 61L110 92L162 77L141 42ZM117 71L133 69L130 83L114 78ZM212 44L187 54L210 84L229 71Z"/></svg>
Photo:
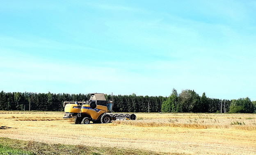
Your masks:
<svg viewBox="0 0 256 155"><path fill-rule="evenodd" d="M85 145L46 144L0 138L0 155L163 155L147 150L93 147ZM175 153L177 154L177 153Z"/></svg>

